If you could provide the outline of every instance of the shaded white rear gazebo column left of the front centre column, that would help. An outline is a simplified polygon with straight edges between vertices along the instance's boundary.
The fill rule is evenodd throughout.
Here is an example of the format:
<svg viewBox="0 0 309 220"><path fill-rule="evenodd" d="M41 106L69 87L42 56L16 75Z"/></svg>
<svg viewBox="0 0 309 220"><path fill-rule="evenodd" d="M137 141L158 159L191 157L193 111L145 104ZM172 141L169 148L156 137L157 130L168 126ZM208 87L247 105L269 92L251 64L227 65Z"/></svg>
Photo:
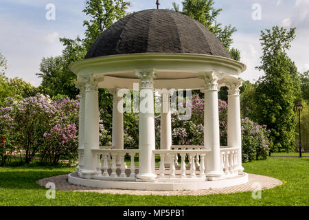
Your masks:
<svg viewBox="0 0 309 220"><path fill-rule="evenodd" d="M108 89L109 93L113 94L113 130L112 130L112 145L115 149L124 149L124 115L118 111L117 106L122 97L117 96L119 89ZM116 157L116 165L121 165L120 155Z"/></svg>

